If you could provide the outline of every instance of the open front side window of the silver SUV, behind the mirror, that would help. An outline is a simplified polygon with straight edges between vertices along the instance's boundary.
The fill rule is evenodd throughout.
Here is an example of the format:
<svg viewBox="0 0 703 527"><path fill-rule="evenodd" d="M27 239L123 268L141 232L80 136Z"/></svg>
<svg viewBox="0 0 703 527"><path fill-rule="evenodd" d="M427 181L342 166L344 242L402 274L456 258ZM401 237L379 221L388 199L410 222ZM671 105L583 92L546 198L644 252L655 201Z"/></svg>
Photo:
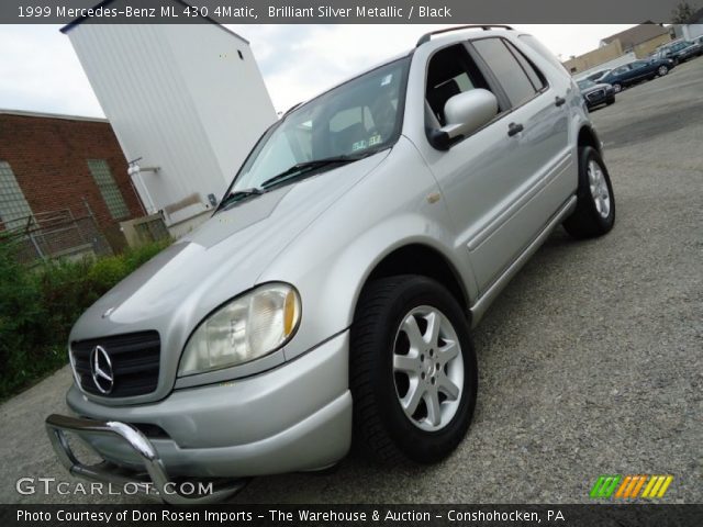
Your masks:
<svg viewBox="0 0 703 527"><path fill-rule="evenodd" d="M437 124L444 126L446 124L444 106L447 101L458 93L475 88L489 89L464 44L445 47L435 53L427 67L425 87L425 100L428 106L427 126L431 128L436 127Z"/></svg>

